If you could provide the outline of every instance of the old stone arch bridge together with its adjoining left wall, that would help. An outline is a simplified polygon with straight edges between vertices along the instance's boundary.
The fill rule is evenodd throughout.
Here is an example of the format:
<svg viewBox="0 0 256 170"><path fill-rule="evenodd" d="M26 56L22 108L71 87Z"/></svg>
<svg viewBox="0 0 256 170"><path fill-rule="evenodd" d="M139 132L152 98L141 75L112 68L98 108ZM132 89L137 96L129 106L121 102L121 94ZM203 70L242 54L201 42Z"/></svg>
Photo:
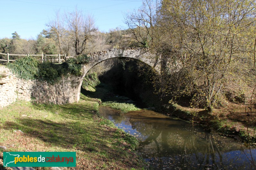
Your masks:
<svg viewBox="0 0 256 170"><path fill-rule="evenodd" d="M85 74L96 64L110 58L126 57L144 62L157 71L160 69L158 58L152 56L148 48L110 49L88 54L89 63L82 68L82 76L69 75L62 77L60 82L50 85L38 80L16 78L8 68L0 67L0 107L7 106L18 99L40 103L65 104L78 102Z"/></svg>

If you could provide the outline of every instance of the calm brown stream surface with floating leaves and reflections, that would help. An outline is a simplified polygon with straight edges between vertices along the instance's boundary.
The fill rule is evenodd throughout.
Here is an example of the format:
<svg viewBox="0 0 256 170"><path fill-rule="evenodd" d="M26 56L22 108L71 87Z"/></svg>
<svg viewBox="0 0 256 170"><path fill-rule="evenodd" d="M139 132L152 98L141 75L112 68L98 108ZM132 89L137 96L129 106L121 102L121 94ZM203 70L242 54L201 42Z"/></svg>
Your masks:
<svg viewBox="0 0 256 170"><path fill-rule="evenodd" d="M201 126L150 110L100 114L140 139L140 154L155 169L255 169L256 150Z"/></svg>

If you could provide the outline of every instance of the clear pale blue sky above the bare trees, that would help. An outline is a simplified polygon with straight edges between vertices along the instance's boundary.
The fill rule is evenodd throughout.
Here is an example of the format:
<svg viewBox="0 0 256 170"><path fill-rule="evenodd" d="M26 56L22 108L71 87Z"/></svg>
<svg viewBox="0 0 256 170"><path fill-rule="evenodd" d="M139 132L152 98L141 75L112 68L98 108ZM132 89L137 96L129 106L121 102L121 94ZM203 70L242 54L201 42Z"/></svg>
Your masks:
<svg viewBox="0 0 256 170"><path fill-rule="evenodd" d="M23 39L36 39L54 18L56 10L78 10L91 13L102 32L125 27L123 13L141 6L142 0L0 0L0 38L11 38L15 31Z"/></svg>

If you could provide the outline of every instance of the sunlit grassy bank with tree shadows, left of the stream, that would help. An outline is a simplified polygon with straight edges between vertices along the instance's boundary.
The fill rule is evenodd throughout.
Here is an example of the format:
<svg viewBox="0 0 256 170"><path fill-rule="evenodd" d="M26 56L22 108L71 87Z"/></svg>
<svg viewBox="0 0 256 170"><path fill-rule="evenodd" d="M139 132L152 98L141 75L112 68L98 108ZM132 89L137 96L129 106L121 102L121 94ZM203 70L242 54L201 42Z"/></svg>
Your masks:
<svg viewBox="0 0 256 170"><path fill-rule="evenodd" d="M66 105L16 101L0 113L0 169L3 152L76 152L76 167L141 169L135 137L98 115L99 100L81 94ZM20 130L20 131L18 131ZM37 167L35 169L50 169Z"/></svg>

